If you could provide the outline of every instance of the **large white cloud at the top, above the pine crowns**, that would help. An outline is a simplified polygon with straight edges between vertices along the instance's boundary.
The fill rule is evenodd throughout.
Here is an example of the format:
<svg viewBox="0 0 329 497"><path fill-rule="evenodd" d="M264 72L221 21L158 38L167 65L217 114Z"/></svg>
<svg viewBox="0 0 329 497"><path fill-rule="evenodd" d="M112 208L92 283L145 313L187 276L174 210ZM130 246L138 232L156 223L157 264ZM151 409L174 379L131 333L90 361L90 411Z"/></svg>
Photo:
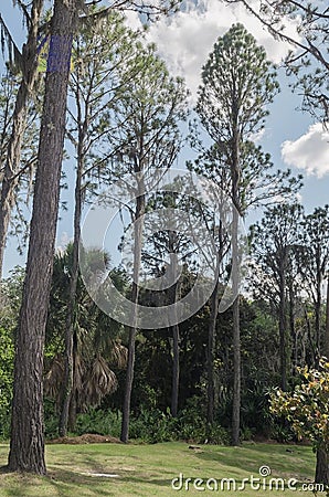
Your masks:
<svg viewBox="0 0 329 497"><path fill-rule="evenodd" d="M136 17L129 21L136 27ZM169 18L162 17L152 24L147 39L157 44L169 68L185 78L195 98L201 68L213 44L236 22L245 25L273 62L280 62L287 54L289 46L274 40L243 6L229 6L220 0L187 0L184 11ZM287 32L296 35L296 25L287 23Z"/></svg>

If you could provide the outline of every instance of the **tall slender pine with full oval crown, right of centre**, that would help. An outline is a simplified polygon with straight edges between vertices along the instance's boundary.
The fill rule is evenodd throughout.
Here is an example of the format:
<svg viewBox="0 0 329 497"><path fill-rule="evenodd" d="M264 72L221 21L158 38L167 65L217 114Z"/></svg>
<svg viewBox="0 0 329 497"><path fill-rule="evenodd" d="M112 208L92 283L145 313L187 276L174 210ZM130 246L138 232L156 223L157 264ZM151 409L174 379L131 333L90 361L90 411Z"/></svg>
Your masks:
<svg viewBox="0 0 329 497"><path fill-rule="evenodd" d="M245 213L246 188L243 184L243 163L246 162L248 150L252 147L248 145L252 136L264 126L265 117L268 114L266 105L273 101L277 91L276 74L266 60L265 50L257 46L255 39L242 24L233 25L226 34L217 40L203 67L197 113L213 141L213 154L210 154L212 176L216 176L215 172L217 172L219 182L221 182L222 171L224 171L229 182L222 183L221 187L231 197L234 207L232 260L236 266L233 272L232 289L237 296L233 304L232 442L234 445L240 443L238 218ZM255 155L254 160L258 162ZM202 170L202 166L200 169ZM250 180L248 183L250 188L253 188L253 181Z"/></svg>

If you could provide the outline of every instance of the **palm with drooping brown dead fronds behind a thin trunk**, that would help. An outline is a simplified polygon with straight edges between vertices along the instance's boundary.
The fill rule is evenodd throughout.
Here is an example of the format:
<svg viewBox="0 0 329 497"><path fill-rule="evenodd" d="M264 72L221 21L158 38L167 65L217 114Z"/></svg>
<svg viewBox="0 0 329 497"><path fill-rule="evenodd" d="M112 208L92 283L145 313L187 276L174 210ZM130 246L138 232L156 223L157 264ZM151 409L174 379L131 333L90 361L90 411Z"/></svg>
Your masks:
<svg viewBox="0 0 329 497"><path fill-rule="evenodd" d="M88 257L97 265L98 251ZM53 358L46 368L45 394L56 401L60 410L64 385L64 330L67 314L67 296L72 276L73 245L59 252L54 260L51 304L46 327L47 343ZM76 414L88 406L98 406L103 398L114 393L118 387L112 368L126 367L127 349L120 343L121 327L92 300L83 282L78 278L74 309L73 336L73 388L70 399L68 427L75 426Z"/></svg>

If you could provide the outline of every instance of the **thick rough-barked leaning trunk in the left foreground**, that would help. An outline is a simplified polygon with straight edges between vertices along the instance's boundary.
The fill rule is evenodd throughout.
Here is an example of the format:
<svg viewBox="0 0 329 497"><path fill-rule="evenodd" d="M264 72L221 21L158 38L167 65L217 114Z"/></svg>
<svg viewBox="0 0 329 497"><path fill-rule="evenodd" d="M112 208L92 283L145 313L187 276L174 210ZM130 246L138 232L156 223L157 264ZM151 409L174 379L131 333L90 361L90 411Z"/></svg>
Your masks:
<svg viewBox="0 0 329 497"><path fill-rule="evenodd" d="M47 61L39 165L17 335L9 469L46 473L43 353L53 269L72 38L77 3L56 0Z"/></svg>

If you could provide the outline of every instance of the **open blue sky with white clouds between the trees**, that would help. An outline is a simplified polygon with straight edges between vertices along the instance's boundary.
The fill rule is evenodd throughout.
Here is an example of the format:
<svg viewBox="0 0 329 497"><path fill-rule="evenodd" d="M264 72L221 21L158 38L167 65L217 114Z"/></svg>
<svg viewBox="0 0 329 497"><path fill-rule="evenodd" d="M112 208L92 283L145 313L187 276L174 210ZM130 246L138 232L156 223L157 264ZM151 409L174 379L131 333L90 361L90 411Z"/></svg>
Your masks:
<svg viewBox="0 0 329 497"><path fill-rule="evenodd" d="M18 46L21 46L24 30L19 11L7 1L6 4L2 2L0 13L13 33ZM140 25L134 12L128 14L128 22L134 28ZM170 19L162 18L148 31L148 40L158 45L171 72L185 77L192 101L200 83L202 64L217 36L230 29L233 22L242 22L265 46L273 62L278 64L287 53L289 47L275 41L241 6L229 8L219 0L200 0L197 4L195 1L187 1L183 12ZM294 24L288 23L287 30L296 34ZM284 71L279 71L279 82L282 93L270 106L270 115L259 144L272 155L276 168L290 167L295 175L305 176L305 186L300 192L301 203L307 212L310 212L315 207L329 203L329 135L323 134L321 125L314 121L308 114L296 109L300 105L300 97L291 93L288 87L291 80L285 76ZM181 157L179 166L183 166L184 160L185 157ZM66 163L64 168L68 171L68 178L72 178L72 165ZM63 192L62 197L68 202L68 207L72 205L73 193L72 184ZM70 240L72 224L72 209L62 211L57 245L64 245ZM15 264L23 262L24 257L17 254L17 241L9 240L4 274Z"/></svg>

